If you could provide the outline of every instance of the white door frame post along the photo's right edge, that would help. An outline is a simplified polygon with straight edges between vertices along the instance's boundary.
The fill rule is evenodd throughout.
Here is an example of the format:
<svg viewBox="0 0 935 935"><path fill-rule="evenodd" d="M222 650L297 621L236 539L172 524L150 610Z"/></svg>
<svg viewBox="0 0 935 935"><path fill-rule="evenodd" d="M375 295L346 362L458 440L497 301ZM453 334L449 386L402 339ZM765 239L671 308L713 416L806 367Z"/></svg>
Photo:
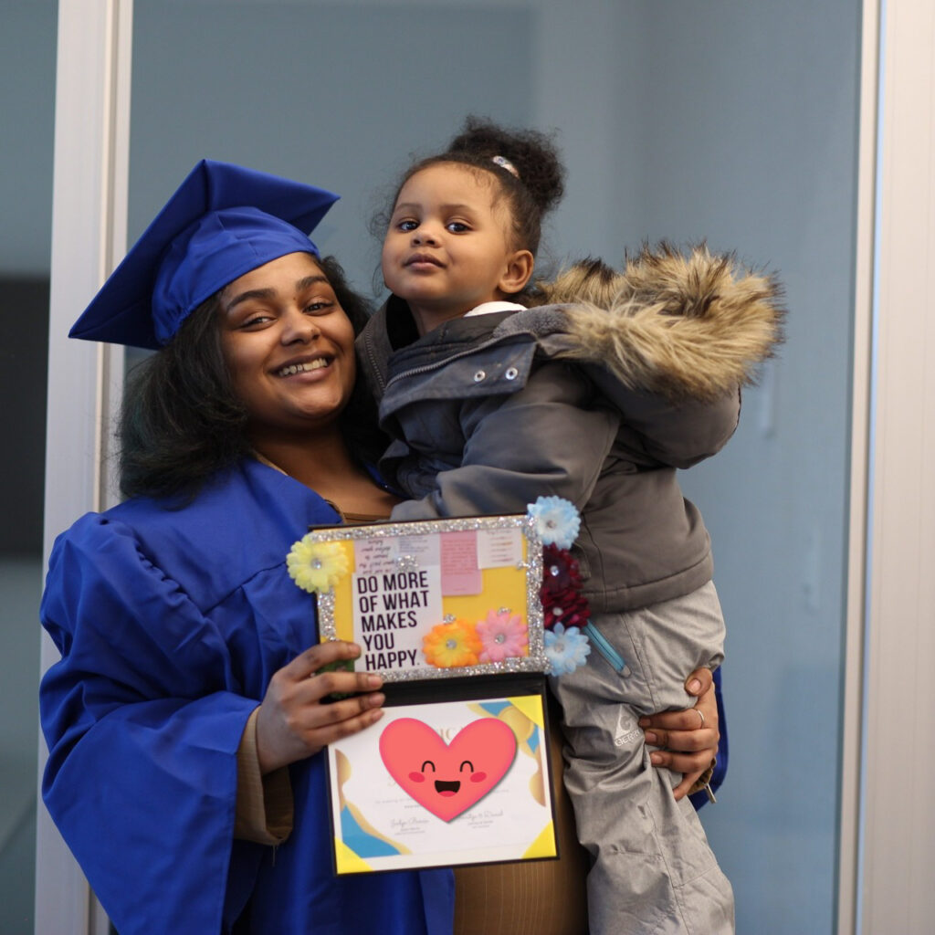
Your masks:
<svg viewBox="0 0 935 935"><path fill-rule="evenodd" d="M913 935L935 918L935 5L867 7L841 931Z"/></svg>

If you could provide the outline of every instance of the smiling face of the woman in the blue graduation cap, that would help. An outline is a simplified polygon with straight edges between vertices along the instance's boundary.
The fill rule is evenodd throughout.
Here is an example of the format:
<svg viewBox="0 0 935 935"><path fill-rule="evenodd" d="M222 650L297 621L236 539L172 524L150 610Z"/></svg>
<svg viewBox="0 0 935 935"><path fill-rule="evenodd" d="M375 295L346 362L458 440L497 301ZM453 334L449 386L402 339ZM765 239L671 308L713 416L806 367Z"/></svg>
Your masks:
<svg viewBox="0 0 935 935"><path fill-rule="evenodd" d="M315 258L271 260L220 299L224 358L250 430L284 437L334 424L353 389L354 334Z"/></svg>

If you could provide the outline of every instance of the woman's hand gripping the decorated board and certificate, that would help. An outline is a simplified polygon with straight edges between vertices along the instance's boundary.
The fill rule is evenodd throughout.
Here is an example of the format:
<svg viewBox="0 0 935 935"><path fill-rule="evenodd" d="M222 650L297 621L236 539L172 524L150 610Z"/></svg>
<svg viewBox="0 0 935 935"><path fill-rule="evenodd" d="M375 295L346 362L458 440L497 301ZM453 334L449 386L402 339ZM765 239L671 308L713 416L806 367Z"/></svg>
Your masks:
<svg viewBox="0 0 935 935"><path fill-rule="evenodd" d="M343 640L319 643L274 673L256 718L256 751L263 773L317 754L325 744L356 734L383 716L379 675L326 671L355 659L360 647ZM322 702L333 692L353 698Z"/></svg>

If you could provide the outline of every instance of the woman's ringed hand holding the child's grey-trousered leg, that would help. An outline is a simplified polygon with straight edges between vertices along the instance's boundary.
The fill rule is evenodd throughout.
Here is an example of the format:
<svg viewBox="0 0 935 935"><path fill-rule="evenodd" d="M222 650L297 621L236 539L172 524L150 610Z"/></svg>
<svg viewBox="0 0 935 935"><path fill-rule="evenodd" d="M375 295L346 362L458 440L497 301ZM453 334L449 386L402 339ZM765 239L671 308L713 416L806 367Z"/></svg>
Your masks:
<svg viewBox="0 0 935 935"><path fill-rule="evenodd" d="M676 799L686 796L711 766L721 737L711 669L695 669L685 679L685 691L698 698L694 708L640 718L646 742L661 748L650 754L653 765L683 773L682 782L673 790Z"/></svg>

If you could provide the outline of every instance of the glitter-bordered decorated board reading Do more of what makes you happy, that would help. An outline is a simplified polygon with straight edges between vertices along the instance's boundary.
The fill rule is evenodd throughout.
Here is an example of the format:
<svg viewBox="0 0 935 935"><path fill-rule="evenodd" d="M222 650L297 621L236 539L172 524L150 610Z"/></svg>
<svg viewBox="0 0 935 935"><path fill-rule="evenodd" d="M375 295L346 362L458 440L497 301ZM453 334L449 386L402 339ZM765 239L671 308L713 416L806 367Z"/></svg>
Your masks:
<svg viewBox="0 0 935 935"><path fill-rule="evenodd" d="M334 572L317 589L322 639L356 642L384 681L547 669L529 516L330 526L303 542Z"/></svg>

